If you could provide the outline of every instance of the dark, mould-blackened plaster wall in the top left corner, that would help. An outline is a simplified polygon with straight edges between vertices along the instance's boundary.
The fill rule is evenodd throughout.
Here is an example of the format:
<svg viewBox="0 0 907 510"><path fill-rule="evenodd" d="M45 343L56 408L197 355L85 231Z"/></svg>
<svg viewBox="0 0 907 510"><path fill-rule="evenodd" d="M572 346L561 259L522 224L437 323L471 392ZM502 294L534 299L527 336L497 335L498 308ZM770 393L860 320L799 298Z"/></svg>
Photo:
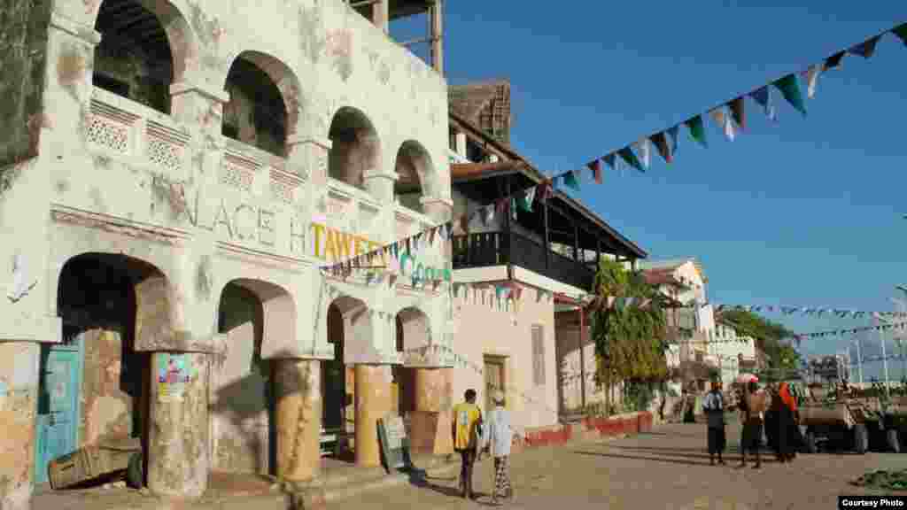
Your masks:
<svg viewBox="0 0 907 510"><path fill-rule="evenodd" d="M52 2L6 0L0 9L0 174L34 157L43 119L47 24ZM0 177L2 180L2 177ZM0 182L0 194L3 184Z"/></svg>

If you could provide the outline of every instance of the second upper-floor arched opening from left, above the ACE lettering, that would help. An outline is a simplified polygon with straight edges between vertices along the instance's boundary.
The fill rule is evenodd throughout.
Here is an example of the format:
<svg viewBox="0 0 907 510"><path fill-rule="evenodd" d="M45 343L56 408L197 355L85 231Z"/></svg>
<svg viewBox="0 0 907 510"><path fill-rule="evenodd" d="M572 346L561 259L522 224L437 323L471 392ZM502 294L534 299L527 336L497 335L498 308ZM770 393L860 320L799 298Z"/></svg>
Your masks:
<svg viewBox="0 0 907 510"><path fill-rule="evenodd" d="M286 67L268 55L240 54L227 74L229 103L224 104L223 135L286 157L291 117L279 83L287 78Z"/></svg>

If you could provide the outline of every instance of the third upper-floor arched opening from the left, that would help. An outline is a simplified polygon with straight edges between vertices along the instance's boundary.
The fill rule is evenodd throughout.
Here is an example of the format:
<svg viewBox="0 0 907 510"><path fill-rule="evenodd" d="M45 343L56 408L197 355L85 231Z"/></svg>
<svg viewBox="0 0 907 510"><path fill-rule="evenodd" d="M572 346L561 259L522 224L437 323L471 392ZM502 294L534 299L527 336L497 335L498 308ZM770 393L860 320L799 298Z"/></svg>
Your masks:
<svg viewBox="0 0 907 510"><path fill-rule="evenodd" d="M328 137L328 176L365 190L366 172L381 166L381 143L375 126L365 113L345 107L334 115Z"/></svg>

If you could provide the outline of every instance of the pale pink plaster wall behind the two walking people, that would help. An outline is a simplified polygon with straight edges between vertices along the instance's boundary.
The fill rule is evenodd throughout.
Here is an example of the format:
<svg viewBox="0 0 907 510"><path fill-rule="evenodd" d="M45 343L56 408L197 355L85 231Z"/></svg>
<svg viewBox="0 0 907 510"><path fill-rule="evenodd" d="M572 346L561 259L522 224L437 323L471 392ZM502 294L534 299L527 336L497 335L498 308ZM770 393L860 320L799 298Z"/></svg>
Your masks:
<svg viewBox="0 0 907 510"><path fill-rule="evenodd" d="M454 299L456 332L453 350L461 359L453 368L453 400L463 400L463 392L473 387L477 402L485 406L482 373L484 355L506 357L505 371L510 377L506 397L513 411L514 427L547 427L557 423L558 388L554 351L554 305L551 298L536 299L535 289L524 289L516 308L494 303L493 287L460 289ZM532 380L532 326L544 331L544 384Z"/></svg>

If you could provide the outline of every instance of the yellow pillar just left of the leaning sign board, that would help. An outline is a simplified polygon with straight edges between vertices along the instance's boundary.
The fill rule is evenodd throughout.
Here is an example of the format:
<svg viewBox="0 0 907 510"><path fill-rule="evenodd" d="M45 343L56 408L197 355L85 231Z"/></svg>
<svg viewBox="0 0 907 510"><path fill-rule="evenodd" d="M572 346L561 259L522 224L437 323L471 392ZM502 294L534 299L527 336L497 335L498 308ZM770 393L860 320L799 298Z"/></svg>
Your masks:
<svg viewBox="0 0 907 510"><path fill-rule="evenodd" d="M391 410L388 368L356 365L356 466L381 466L378 420Z"/></svg>

